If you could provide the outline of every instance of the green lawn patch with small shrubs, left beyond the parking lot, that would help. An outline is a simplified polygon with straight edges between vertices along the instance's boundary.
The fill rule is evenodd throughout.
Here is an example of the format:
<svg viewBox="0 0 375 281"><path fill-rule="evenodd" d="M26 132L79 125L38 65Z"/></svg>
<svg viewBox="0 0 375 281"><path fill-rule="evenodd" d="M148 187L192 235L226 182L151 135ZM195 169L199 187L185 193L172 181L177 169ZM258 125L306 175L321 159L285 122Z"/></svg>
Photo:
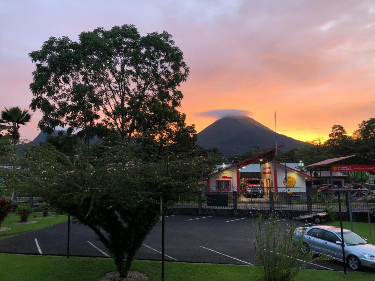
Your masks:
<svg viewBox="0 0 375 281"><path fill-rule="evenodd" d="M42 215L43 214L36 214L37 217L42 217ZM29 215L28 220L35 220L34 214ZM11 229L0 232L0 239L9 238L10 236L14 236L20 232L41 229L43 227L48 227L54 224L63 223L64 221L67 221L67 220L68 220L67 216L56 216L55 218L36 220L37 223L33 223L33 224L24 224L24 225L12 224L13 222L20 221L20 217L16 216L15 213L13 212L13 213L10 213L1 224L1 227L10 227Z"/></svg>

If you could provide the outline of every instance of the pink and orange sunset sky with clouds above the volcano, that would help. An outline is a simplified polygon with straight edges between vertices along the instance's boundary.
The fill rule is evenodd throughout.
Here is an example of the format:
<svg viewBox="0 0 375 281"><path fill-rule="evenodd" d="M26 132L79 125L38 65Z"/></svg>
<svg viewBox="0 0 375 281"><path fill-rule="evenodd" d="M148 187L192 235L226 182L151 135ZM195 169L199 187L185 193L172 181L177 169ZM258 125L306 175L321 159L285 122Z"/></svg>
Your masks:
<svg viewBox="0 0 375 281"><path fill-rule="evenodd" d="M142 35L168 31L184 52L190 75L180 111L198 132L227 114L275 129L276 110L278 132L306 141L327 138L335 124L351 134L375 117L375 1L0 4L0 109L28 108L34 70L28 53L49 36L77 40L99 26L134 24ZM39 133L40 116L34 113L22 138Z"/></svg>

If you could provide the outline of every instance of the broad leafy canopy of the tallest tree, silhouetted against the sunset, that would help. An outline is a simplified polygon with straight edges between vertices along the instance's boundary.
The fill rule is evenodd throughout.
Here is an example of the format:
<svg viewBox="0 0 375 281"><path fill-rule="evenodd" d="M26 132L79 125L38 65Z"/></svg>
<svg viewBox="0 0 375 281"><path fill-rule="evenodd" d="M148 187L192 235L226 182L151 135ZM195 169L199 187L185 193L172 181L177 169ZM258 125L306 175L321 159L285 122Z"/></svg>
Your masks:
<svg viewBox="0 0 375 281"><path fill-rule="evenodd" d="M30 57L36 65L30 107L42 111L44 132L69 126L89 139L105 128L127 142L149 136L165 144L169 134L188 130L176 107L189 68L166 31L141 36L133 25L100 27L78 42L50 37Z"/></svg>

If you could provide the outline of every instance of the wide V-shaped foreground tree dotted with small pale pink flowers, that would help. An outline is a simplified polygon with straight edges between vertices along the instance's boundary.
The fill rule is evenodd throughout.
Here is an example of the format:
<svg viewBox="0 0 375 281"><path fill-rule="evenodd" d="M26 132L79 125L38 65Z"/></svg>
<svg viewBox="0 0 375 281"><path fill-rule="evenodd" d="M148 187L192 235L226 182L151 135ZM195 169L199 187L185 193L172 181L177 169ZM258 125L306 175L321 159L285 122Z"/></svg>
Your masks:
<svg viewBox="0 0 375 281"><path fill-rule="evenodd" d="M69 157L54 148L28 146L18 174L5 176L5 185L27 182L35 196L75 216L89 226L114 257L121 277L126 277L133 257L160 216L163 204L196 191L197 179L213 170L210 157L144 155L136 145L103 147L101 157ZM141 156L141 157L140 157ZM177 157L178 156L178 157ZM203 165L202 165L203 161ZM125 260L126 258L126 260Z"/></svg>

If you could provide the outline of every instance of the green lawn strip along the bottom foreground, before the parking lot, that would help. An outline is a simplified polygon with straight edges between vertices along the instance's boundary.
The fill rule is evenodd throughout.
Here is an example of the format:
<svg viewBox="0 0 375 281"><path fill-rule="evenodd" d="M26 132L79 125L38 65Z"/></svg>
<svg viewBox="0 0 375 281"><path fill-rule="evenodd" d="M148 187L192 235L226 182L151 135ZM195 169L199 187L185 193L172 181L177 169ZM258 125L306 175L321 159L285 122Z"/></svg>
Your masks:
<svg viewBox="0 0 375 281"><path fill-rule="evenodd" d="M99 280L107 272L114 271L113 259L33 256L0 253L0 280ZM161 262L134 260L132 271L147 275L150 281L160 280ZM296 280L363 281L373 280L373 272L319 271L303 269ZM166 262L165 280L181 281L226 281L226 280L262 280L258 266L198 264L184 262Z"/></svg>

